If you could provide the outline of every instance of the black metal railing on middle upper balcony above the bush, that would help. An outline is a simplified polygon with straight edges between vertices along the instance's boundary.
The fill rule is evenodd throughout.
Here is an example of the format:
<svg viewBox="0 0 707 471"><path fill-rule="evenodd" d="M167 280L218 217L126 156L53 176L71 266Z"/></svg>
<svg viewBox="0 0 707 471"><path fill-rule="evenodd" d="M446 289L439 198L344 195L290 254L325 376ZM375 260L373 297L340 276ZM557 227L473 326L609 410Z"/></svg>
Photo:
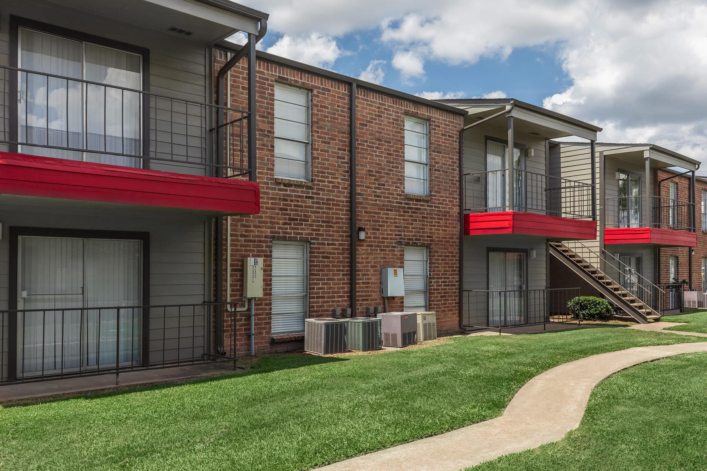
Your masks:
<svg viewBox="0 0 707 471"><path fill-rule="evenodd" d="M516 170L513 210L571 219L591 218L592 186L580 181ZM464 174L464 212L509 211L508 169Z"/></svg>

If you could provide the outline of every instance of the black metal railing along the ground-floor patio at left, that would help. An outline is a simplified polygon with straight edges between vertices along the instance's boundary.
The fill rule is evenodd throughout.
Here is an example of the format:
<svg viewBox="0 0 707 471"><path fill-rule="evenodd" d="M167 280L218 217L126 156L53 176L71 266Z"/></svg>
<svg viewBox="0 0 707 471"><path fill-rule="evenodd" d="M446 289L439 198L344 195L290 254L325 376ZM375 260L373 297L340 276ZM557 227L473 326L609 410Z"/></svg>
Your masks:
<svg viewBox="0 0 707 471"><path fill-rule="evenodd" d="M226 302L0 310L0 384L210 362L235 369L235 314Z"/></svg>

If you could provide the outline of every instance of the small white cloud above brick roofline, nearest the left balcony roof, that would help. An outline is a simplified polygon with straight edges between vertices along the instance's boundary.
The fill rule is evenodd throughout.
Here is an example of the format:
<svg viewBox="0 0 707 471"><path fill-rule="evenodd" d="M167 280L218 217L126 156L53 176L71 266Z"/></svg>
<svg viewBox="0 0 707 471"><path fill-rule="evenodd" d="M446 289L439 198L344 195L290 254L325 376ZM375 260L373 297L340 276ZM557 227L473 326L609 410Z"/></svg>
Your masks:
<svg viewBox="0 0 707 471"><path fill-rule="evenodd" d="M312 32L308 37L284 35L267 52L317 67L331 68L341 54L332 37Z"/></svg>

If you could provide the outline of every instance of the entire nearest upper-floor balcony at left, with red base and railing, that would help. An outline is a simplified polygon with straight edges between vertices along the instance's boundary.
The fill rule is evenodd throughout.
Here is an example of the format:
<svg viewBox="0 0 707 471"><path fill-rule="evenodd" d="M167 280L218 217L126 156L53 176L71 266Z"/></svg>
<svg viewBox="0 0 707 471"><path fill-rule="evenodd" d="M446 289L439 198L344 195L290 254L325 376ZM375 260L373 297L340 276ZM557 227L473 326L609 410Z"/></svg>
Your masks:
<svg viewBox="0 0 707 471"><path fill-rule="evenodd" d="M211 0L35 7L0 7L11 43L0 59L2 198L259 212L251 116L221 94L213 102L208 65L224 36L255 37L259 12Z"/></svg>

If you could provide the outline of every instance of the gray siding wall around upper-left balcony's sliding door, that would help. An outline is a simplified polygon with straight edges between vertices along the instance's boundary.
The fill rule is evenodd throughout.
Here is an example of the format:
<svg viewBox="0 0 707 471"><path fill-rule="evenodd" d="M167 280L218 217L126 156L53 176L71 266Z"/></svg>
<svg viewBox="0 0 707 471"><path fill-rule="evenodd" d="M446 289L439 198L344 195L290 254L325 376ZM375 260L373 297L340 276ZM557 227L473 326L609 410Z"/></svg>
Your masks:
<svg viewBox="0 0 707 471"><path fill-rule="evenodd" d="M47 0L33 1L32 4L20 1L0 4L0 65L9 65L10 15L149 49L149 91L199 103L213 101L211 80L207 75L207 71L211 71L211 49L205 44L66 8ZM1 109L0 113L7 112L6 107ZM209 133L204 128L209 127L210 113L209 109L187 107L184 102L153 98L149 136L153 141L151 155L187 162L209 159ZM205 123L202 117L206 119ZM170 126L171 123L174 124ZM0 134L2 131L5 130L0 129ZM7 148L0 145L0 150ZM200 165L157 161L150 162L149 168L189 174L205 172Z"/></svg>

